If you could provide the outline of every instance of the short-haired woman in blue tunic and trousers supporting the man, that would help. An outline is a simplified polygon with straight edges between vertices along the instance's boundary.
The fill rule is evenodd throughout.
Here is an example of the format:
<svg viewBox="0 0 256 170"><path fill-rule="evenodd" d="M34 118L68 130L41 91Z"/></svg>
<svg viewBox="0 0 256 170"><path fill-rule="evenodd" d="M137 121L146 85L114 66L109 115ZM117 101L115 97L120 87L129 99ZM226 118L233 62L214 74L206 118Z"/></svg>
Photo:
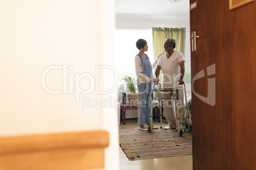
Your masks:
<svg viewBox="0 0 256 170"><path fill-rule="evenodd" d="M151 100L152 100L152 84L159 79L153 79L152 69L157 65L158 58L151 65L148 55L145 51L148 51L148 44L145 39L139 39L136 42L136 47L139 49L138 55L135 56L135 71L137 75L138 84L138 124L139 129L147 131L148 129L144 126L150 126L150 114L151 114ZM157 129L156 126L152 125L152 129Z"/></svg>

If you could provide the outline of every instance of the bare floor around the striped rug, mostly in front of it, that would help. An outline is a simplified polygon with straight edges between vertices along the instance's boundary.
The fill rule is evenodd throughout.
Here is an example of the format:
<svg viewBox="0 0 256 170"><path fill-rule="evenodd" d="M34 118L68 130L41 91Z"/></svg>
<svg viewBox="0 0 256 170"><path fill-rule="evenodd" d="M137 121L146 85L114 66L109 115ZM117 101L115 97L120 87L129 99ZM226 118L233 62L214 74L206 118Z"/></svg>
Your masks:
<svg viewBox="0 0 256 170"><path fill-rule="evenodd" d="M160 123L154 121L154 125L160 127ZM166 126L163 120L163 126ZM136 127L137 120L128 120L125 125L120 127ZM139 128L139 126L138 126ZM192 155L184 155L178 157L164 157L144 160L129 160L120 148L120 170L192 170Z"/></svg>

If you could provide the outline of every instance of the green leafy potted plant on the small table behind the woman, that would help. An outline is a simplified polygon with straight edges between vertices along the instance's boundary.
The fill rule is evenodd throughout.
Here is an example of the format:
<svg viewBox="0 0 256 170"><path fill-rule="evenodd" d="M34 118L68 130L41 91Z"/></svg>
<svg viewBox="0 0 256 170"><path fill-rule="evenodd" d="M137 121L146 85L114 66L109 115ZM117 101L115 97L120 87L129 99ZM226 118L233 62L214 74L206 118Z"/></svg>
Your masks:
<svg viewBox="0 0 256 170"><path fill-rule="evenodd" d="M124 84L122 86L126 85L127 88L131 93L128 93L127 98L129 100L129 103L137 104L138 103L138 93L136 93L136 81L131 76L125 75L122 79L124 81ZM122 86L120 88L122 88Z"/></svg>

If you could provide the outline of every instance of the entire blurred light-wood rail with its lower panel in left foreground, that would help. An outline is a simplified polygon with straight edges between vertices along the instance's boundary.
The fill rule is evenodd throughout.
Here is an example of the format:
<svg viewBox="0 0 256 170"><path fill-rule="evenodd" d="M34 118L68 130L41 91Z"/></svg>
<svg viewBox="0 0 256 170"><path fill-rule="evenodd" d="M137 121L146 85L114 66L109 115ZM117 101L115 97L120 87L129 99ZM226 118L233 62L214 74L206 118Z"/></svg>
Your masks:
<svg viewBox="0 0 256 170"><path fill-rule="evenodd" d="M0 137L0 169L103 169L106 131Z"/></svg>

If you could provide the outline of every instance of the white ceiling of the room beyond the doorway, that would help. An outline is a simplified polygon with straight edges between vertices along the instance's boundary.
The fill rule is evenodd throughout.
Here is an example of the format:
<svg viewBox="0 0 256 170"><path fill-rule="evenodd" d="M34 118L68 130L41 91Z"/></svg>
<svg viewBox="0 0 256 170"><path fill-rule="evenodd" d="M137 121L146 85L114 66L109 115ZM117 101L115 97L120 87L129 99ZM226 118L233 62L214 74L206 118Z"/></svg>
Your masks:
<svg viewBox="0 0 256 170"><path fill-rule="evenodd" d="M167 0L115 0L118 16L189 19L189 0L169 3Z"/></svg>

